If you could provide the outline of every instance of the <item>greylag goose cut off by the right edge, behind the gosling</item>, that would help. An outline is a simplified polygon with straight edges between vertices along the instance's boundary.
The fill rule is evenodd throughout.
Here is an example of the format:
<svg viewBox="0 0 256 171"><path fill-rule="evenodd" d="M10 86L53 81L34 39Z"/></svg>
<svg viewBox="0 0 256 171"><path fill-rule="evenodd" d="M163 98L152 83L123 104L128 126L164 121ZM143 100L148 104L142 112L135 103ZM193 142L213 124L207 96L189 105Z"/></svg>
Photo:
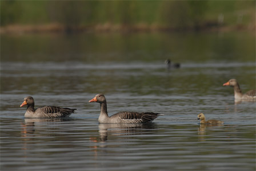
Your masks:
<svg viewBox="0 0 256 171"><path fill-rule="evenodd" d="M223 86L231 86L234 88L235 100L256 100L256 89L251 89L243 94L236 79L230 79L228 82L224 83Z"/></svg>

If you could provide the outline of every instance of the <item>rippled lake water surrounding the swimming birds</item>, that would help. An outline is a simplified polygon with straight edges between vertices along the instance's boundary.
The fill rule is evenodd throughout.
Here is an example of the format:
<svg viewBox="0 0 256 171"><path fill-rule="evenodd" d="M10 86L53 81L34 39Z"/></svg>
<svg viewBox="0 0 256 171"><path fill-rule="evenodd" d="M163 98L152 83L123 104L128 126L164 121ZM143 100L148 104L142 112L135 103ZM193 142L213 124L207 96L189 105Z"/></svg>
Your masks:
<svg viewBox="0 0 256 171"><path fill-rule="evenodd" d="M256 103L234 103L231 78L255 89L254 34L1 35L1 170L255 170ZM98 124L97 93L109 115L165 116ZM78 110L25 119L29 95ZM199 125L200 112L225 124Z"/></svg>

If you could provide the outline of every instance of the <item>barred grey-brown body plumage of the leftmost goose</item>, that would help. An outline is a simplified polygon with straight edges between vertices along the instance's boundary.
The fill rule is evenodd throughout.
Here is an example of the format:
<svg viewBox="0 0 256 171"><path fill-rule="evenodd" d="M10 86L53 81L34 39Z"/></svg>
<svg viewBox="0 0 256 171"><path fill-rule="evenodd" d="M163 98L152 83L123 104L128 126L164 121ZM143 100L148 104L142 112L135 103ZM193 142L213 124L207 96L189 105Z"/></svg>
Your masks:
<svg viewBox="0 0 256 171"><path fill-rule="evenodd" d="M45 106L40 107L35 110L34 115L38 117L67 117L71 115L71 113L74 113L76 109L70 109L70 108L61 108L61 107L55 107L55 106Z"/></svg>

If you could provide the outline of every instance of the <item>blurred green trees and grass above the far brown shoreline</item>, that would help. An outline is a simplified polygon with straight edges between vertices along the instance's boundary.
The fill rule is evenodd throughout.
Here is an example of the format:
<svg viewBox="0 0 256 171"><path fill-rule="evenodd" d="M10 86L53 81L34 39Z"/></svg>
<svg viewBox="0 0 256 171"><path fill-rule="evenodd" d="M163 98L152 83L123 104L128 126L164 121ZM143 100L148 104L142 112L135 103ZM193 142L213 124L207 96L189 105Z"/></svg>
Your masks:
<svg viewBox="0 0 256 171"><path fill-rule="evenodd" d="M218 20L223 16L222 20ZM198 30L255 25L255 1L1 1L1 26L59 23L66 30L95 25L147 25Z"/></svg>

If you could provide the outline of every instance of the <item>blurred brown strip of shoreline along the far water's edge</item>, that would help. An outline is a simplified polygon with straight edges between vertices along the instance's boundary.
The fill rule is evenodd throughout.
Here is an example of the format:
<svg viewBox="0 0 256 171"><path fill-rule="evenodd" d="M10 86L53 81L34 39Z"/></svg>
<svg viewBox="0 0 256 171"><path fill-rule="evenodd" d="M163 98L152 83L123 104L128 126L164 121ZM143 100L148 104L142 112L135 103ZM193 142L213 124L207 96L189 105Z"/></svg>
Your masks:
<svg viewBox="0 0 256 171"><path fill-rule="evenodd" d="M75 32L228 32L228 31L249 31L255 33L255 25L237 25L237 26L225 26L225 25L205 25L197 28L173 28L168 26L158 25L93 25L93 26L63 26L56 23L45 25L8 25L0 27L1 34L29 34L29 33L75 33Z"/></svg>

